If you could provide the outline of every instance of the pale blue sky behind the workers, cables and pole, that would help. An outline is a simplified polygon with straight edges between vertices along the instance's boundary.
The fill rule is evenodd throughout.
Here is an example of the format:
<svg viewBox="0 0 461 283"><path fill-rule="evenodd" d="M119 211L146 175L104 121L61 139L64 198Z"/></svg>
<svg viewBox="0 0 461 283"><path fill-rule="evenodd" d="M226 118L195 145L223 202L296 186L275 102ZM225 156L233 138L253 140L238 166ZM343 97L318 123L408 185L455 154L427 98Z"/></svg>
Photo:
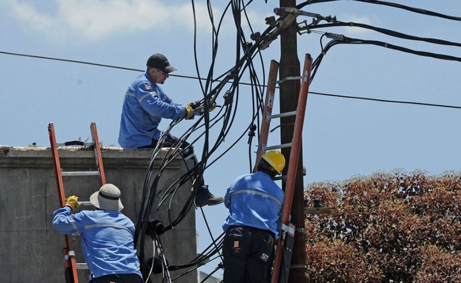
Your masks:
<svg viewBox="0 0 461 283"><path fill-rule="evenodd" d="M301 1L299 1L301 2ZM461 2L399 0L398 3L460 16ZM40 5L38 4L40 3ZM204 1L195 1L198 21L198 61L201 74L211 62L211 32ZM212 1L215 18L224 1ZM278 1L255 0L248 6L254 30L265 29ZM421 37L461 42L461 23L396 8L356 1L334 1L306 6L305 11L336 15ZM306 18L310 21L310 18ZM298 19L298 21L304 20ZM0 0L0 51L83 60L144 69L151 54L165 54L176 74L195 76L193 22L190 1L158 0ZM250 32L245 36L249 40ZM461 49L412 42L359 28L323 31L361 39L374 39L407 48L461 57ZM298 54L315 58L318 34L298 37ZM326 41L324 41L326 43ZM279 60L279 41L263 51L266 67ZM234 65L235 28L230 16L219 38L215 73ZM89 124L98 125L104 145L117 145L123 96L137 72L67 62L0 54L1 145L47 147L47 124L55 123L61 141L89 137ZM428 102L461 106L461 64L405 54L367 45L338 45L325 55L310 90L352 96ZM262 79L262 76L260 76ZM248 81L248 75L242 81ZM201 97L197 80L170 77L162 85L177 103ZM222 103L218 100L218 103ZM275 104L278 105L278 96ZM225 149L248 126L251 92L241 88L237 119L222 146ZM274 113L277 113L274 110ZM344 180L396 168L427 170L436 175L461 169L458 129L460 109L360 101L309 95L303 131L304 181ZM169 121L164 120L163 128ZM192 123L184 121L172 131L179 136ZM276 122L273 124L276 125ZM278 143L278 131L271 135ZM223 195L231 181L248 173L246 138L207 169L211 191ZM200 145L196 146L200 153ZM217 156L217 155L216 155ZM197 211L197 215L199 215ZM205 209L214 234L226 217L224 206ZM197 217L200 248L209 244ZM214 264L203 271L211 271Z"/></svg>

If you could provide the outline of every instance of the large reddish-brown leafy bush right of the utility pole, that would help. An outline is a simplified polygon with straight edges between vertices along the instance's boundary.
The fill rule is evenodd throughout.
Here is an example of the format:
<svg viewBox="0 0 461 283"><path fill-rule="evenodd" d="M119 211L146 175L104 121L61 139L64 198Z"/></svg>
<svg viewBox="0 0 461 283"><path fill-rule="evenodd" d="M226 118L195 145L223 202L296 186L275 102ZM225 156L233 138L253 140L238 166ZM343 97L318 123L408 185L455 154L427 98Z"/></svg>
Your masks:
<svg viewBox="0 0 461 283"><path fill-rule="evenodd" d="M461 282L461 173L375 173L307 186L311 282Z"/></svg>

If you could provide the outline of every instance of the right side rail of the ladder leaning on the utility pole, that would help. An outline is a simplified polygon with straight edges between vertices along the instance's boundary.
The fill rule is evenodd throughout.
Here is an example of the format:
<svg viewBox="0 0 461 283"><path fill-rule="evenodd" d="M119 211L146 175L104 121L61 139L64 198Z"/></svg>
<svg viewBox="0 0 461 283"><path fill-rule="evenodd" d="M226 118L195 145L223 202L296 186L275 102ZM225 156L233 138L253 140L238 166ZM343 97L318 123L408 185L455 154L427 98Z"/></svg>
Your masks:
<svg viewBox="0 0 461 283"><path fill-rule="evenodd" d="M288 173L285 186L284 203L282 206L282 214L280 216L281 228L290 227L290 212L293 201L293 193L295 189L296 172L298 167L299 154L301 150L302 127L304 124L304 115L306 113L307 93L309 90L310 78L312 71L312 57L306 54L304 60L304 68L301 75L301 88L299 91L298 105L296 108L295 126L293 138L291 140L290 161L288 162ZM289 229L292 231L291 229ZM285 278L288 278L291 262L291 248L293 244L292 233L280 230L280 238L277 242L275 250L274 266L272 271L271 283L286 283ZM285 268L282 270L282 261L285 263ZM287 266L288 265L288 266Z"/></svg>

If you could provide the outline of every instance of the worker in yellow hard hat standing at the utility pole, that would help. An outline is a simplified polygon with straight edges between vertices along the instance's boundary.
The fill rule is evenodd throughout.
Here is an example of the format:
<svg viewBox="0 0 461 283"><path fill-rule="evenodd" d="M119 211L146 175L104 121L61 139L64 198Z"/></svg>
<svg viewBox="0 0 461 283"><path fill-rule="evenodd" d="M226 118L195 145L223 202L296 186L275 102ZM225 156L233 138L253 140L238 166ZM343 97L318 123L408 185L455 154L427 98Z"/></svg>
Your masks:
<svg viewBox="0 0 461 283"><path fill-rule="evenodd" d="M273 181L285 167L280 151L261 157L258 172L238 177L227 189L223 229L224 283L268 283L284 192Z"/></svg>

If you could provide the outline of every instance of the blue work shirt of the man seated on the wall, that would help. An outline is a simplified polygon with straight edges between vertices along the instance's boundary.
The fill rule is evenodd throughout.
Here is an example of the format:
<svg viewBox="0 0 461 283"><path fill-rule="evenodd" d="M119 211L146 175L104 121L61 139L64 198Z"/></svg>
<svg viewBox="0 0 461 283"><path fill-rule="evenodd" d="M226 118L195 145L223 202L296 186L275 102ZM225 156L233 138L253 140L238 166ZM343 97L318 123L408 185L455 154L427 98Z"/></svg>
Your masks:
<svg viewBox="0 0 461 283"><path fill-rule="evenodd" d="M157 127L162 118L176 120L185 114L186 108L166 96L145 72L125 93L118 144L122 148L150 145L153 138L160 139L161 132Z"/></svg>

